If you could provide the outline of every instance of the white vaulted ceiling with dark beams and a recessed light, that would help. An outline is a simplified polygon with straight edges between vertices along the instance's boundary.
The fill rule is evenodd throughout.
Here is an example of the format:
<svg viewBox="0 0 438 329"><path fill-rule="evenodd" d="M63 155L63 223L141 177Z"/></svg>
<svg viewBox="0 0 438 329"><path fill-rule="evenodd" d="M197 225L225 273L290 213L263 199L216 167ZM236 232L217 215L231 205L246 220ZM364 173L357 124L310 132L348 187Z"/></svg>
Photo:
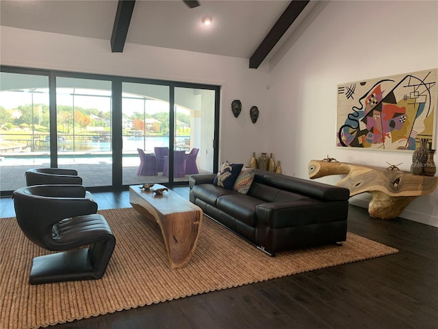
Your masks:
<svg viewBox="0 0 438 329"><path fill-rule="evenodd" d="M112 51L123 51L128 42L248 58L249 66L257 68L318 2L200 0L189 8L182 0L1 0L0 24L108 40ZM205 16L211 25L203 25Z"/></svg>

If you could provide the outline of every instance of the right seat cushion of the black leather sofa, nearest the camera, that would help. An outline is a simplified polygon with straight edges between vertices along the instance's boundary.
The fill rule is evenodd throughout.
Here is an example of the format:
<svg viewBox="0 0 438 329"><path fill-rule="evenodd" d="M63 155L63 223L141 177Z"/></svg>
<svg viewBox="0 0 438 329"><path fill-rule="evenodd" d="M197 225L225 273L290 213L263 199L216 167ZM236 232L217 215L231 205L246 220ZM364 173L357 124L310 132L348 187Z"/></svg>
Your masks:
<svg viewBox="0 0 438 329"><path fill-rule="evenodd" d="M235 195L218 197L216 206L219 210L222 210L238 221L242 221L249 226L256 226L255 207L262 203L263 200L261 199L236 193Z"/></svg>

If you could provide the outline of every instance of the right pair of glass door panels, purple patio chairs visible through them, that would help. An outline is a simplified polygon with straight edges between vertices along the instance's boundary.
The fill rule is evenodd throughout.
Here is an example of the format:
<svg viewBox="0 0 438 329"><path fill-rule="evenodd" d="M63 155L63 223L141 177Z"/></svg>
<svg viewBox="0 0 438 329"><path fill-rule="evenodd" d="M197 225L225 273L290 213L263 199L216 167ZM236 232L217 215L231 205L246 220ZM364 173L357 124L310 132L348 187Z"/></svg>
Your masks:
<svg viewBox="0 0 438 329"><path fill-rule="evenodd" d="M122 86L124 185L187 182L213 170L216 90Z"/></svg>

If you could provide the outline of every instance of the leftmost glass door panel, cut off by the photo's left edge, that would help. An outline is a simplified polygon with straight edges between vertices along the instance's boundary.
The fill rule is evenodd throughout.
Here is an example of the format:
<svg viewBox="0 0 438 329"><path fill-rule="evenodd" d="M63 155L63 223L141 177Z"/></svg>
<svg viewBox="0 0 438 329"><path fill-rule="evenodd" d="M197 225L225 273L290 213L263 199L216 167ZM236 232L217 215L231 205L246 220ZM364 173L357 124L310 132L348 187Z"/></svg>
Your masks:
<svg viewBox="0 0 438 329"><path fill-rule="evenodd" d="M49 76L0 74L0 186L14 191L27 169L50 167Z"/></svg>

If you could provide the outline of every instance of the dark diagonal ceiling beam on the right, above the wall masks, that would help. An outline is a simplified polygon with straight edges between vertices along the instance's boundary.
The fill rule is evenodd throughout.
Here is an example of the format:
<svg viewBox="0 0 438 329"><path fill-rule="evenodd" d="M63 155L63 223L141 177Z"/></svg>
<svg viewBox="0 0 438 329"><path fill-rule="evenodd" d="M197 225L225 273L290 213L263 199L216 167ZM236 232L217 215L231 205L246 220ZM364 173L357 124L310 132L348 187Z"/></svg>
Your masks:
<svg viewBox="0 0 438 329"><path fill-rule="evenodd" d="M309 1L292 0L289 5L281 14L280 18L268 35L263 39L257 50L253 53L253 56L249 59L249 68L257 69L261 62L268 56L268 53L274 48L276 42L279 42L280 38L285 34L290 25L294 23L298 15L302 12Z"/></svg>

